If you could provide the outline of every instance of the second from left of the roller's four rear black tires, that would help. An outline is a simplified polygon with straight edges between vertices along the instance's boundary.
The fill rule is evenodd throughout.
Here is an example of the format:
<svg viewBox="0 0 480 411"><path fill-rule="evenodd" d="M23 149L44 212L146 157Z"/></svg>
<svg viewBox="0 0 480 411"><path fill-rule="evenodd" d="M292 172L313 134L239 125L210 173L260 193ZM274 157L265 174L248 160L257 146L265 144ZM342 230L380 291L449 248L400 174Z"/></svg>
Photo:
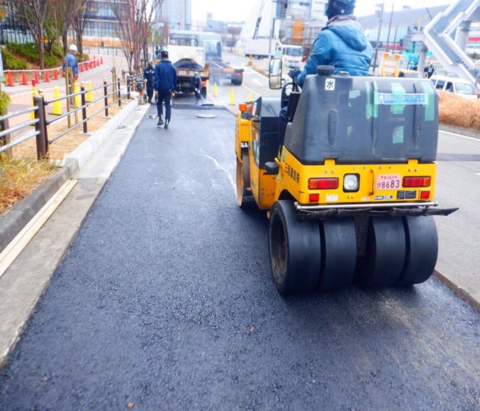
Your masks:
<svg viewBox="0 0 480 411"><path fill-rule="evenodd" d="M319 222L321 272L319 291L333 291L352 284L357 260L357 241L352 218Z"/></svg>

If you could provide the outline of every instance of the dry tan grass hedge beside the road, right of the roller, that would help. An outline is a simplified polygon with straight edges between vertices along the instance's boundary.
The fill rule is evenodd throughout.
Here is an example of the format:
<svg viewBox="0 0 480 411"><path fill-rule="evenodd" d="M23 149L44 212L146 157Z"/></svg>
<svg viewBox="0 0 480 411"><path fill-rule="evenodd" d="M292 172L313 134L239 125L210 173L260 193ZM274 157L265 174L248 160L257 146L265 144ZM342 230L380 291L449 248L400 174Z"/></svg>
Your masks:
<svg viewBox="0 0 480 411"><path fill-rule="evenodd" d="M450 92L439 91L438 117L442 124L480 130L480 100L466 100Z"/></svg>

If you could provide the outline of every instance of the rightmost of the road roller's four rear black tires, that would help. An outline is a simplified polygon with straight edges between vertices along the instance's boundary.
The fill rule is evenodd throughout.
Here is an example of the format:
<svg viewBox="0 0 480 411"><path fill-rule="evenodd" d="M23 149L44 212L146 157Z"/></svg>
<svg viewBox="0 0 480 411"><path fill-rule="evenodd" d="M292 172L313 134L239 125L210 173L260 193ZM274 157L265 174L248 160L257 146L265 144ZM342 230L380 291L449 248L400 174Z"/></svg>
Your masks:
<svg viewBox="0 0 480 411"><path fill-rule="evenodd" d="M437 264L438 235L434 218L402 217L407 243L407 255L398 286L427 281Z"/></svg>

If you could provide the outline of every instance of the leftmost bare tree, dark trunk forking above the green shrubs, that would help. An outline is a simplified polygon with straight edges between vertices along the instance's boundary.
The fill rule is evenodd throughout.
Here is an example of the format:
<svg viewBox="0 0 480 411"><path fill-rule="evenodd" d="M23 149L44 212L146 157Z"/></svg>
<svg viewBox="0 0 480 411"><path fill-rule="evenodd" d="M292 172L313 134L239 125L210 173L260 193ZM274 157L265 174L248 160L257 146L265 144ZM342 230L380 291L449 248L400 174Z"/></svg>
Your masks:
<svg viewBox="0 0 480 411"><path fill-rule="evenodd" d="M12 0L11 4L16 16L25 21L33 34L38 49L40 68L45 68L45 63L43 63L43 22L48 9L48 0Z"/></svg>

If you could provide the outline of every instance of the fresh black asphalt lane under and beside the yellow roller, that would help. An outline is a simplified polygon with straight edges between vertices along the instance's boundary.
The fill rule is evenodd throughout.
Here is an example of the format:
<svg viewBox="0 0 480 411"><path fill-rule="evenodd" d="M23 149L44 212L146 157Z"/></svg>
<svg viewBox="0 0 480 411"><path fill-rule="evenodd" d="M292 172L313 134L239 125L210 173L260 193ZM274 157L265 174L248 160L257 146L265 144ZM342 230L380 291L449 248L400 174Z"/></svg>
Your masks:
<svg viewBox="0 0 480 411"><path fill-rule="evenodd" d="M236 204L235 117L202 113L139 125L0 410L479 410L479 313L436 279L277 294L266 215Z"/></svg>

